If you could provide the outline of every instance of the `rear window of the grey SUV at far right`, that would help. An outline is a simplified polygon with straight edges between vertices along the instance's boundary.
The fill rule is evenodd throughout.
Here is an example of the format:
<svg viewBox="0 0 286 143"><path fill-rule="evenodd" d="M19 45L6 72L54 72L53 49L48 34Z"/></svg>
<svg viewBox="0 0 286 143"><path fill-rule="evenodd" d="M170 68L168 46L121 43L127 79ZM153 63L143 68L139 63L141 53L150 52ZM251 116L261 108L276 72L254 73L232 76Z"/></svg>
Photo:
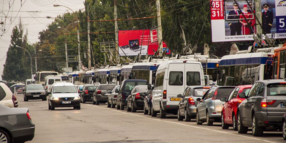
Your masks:
<svg viewBox="0 0 286 143"><path fill-rule="evenodd" d="M272 84L267 86L267 96L286 95L286 84Z"/></svg>

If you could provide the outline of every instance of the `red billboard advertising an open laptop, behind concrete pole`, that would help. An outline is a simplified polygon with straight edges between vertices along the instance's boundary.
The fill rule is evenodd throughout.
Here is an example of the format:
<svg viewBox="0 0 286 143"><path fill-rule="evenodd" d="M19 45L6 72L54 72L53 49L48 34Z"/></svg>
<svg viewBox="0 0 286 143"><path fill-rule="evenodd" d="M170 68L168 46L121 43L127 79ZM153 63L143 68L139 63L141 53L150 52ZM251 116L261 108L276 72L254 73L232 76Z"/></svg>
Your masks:
<svg viewBox="0 0 286 143"><path fill-rule="evenodd" d="M141 55L154 55L154 51L158 49L158 41L151 42L150 30L119 30L118 31L118 45L119 54L121 56L137 56L140 52ZM167 45L163 42L163 50ZM167 54L171 54L169 48Z"/></svg>

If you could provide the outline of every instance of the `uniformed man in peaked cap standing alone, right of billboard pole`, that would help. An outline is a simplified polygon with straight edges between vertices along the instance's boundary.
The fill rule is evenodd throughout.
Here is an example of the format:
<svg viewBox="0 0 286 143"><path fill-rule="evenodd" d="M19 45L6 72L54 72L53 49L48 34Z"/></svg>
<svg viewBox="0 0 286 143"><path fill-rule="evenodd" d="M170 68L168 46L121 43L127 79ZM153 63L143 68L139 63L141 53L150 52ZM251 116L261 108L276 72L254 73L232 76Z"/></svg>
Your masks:
<svg viewBox="0 0 286 143"><path fill-rule="evenodd" d="M262 28L267 34L271 33L271 27L273 23L273 14L269 9L267 3L263 4L264 11L262 11Z"/></svg>

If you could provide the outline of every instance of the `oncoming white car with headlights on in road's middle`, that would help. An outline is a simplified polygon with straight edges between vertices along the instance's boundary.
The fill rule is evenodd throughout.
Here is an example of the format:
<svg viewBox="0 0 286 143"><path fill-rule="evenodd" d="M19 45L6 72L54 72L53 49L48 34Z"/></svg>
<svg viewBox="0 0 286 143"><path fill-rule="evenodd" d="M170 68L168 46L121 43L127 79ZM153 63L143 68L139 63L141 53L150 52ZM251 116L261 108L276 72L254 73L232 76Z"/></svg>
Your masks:
<svg viewBox="0 0 286 143"><path fill-rule="evenodd" d="M70 82L56 82L52 85L51 91L48 91L48 106L54 110L55 107L73 107L81 109L81 98L78 96L75 86Z"/></svg>

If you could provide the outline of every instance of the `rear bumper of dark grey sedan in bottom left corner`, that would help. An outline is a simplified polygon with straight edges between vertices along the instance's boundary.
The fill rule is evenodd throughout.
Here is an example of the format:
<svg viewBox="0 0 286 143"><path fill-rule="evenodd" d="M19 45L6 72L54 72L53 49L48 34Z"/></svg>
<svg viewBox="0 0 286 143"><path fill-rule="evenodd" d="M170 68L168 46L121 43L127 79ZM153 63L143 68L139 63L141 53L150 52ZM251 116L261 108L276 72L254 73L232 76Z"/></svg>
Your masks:
<svg viewBox="0 0 286 143"><path fill-rule="evenodd" d="M35 126L25 129L12 130L14 142L31 141L34 138Z"/></svg>

